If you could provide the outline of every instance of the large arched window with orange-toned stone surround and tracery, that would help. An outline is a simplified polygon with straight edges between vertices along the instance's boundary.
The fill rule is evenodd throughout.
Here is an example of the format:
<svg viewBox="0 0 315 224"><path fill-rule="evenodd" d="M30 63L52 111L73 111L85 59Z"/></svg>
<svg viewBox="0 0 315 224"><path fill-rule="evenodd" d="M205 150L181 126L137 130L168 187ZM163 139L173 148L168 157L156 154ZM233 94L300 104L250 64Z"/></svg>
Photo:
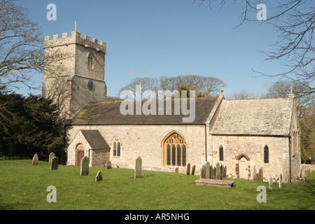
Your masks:
<svg viewBox="0 0 315 224"><path fill-rule="evenodd" d="M186 141L174 132L164 142L163 163L167 166L186 166Z"/></svg>

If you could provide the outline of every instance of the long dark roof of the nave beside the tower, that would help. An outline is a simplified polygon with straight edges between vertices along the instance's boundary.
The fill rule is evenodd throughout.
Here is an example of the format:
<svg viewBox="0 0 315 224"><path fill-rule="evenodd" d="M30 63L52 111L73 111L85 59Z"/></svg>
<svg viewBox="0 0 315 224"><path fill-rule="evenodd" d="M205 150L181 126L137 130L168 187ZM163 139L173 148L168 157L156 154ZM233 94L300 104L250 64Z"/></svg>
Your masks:
<svg viewBox="0 0 315 224"><path fill-rule="evenodd" d="M166 103L164 103L163 115L158 115L158 100L156 100L156 115L136 115L136 101L134 104L134 115L123 116L120 113L120 102L99 102L90 103L85 106L67 125L202 125L207 122L212 109L216 105L219 97L204 97L195 99L195 120L192 123L183 123L183 118L188 118L190 115L174 114L174 99L172 99L172 115L166 115ZM141 101L141 106L147 102ZM190 110L189 99L187 100L187 108ZM125 107L124 107L125 108ZM182 107L181 107L182 109ZM193 111L190 111L193 113Z"/></svg>

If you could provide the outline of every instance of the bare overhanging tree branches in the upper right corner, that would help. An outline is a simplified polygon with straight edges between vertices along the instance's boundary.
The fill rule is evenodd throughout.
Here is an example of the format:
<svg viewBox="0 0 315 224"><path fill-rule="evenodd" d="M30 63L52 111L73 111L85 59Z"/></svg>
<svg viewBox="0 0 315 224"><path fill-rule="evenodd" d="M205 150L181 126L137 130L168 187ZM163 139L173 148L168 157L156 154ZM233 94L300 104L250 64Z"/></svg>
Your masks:
<svg viewBox="0 0 315 224"><path fill-rule="evenodd" d="M211 8L211 1L209 6ZM194 1L196 2L196 0ZM218 1L217 7L223 8L229 0ZM237 1L233 1L236 3ZM200 5L204 0L200 1ZM237 2L238 3L238 2ZM303 92L300 96L312 94L315 92L314 80L314 38L315 27L315 8L312 1L307 0L281 0L281 1L258 1L247 0L241 1L244 3L244 11L241 13L241 22L257 21L250 19L248 16L252 11L258 13L260 10L258 4L264 3L267 7L267 22L272 25L279 37L274 45L276 50L260 52L266 55L267 60L283 59L288 67L287 71L276 74L266 74L261 71L256 71L262 76L272 76L279 78L288 78L295 83L303 85Z"/></svg>

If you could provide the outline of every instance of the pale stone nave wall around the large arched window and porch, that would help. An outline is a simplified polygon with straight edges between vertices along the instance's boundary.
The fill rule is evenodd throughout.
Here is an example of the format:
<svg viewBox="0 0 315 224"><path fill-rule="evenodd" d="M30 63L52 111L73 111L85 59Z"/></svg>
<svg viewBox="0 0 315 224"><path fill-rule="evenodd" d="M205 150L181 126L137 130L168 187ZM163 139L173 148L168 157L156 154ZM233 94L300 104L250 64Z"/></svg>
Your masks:
<svg viewBox="0 0 315 224"><path fill-rule="evenodd" d="M83 134L79 130L99 130L105 141L111 146L110 160L113 167L134 169L134 160L140 156L144 169L173 171L176 166L164 166L162 161L163 140L174 130L186 139L187 143L187 164L199 167L204 164L205 136L204 125L81 125L68 126L68 165L75 165L76 145L87 144ZM121 142L120 156L113 156L113 138L119 137ZM85 151L88 156L88 151ZM92 163L90 163L91 165ZM180 172L185 171L185 167L179 167Z"/></svg>

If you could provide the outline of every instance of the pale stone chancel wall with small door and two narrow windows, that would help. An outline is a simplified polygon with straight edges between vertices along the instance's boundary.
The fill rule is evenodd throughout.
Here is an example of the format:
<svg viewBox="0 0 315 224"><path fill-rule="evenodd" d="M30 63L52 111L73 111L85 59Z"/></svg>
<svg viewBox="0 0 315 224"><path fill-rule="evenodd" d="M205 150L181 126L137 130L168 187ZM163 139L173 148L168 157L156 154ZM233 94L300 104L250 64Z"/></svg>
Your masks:
<svg viewBox="0 0 315 224"><path fill-rule="evenodd" d="M212 137L212 165L217 162L227 166L227 176L239 178L239 160L245 157L247 179L253 179L253 167L256 171L263 167L264 180L283 175L283 181L290 181L288 137L220 136ZM269 148L269 163L264 163L264 148ZM223 146L223 161L219 161L219 148Z"/></svg>

